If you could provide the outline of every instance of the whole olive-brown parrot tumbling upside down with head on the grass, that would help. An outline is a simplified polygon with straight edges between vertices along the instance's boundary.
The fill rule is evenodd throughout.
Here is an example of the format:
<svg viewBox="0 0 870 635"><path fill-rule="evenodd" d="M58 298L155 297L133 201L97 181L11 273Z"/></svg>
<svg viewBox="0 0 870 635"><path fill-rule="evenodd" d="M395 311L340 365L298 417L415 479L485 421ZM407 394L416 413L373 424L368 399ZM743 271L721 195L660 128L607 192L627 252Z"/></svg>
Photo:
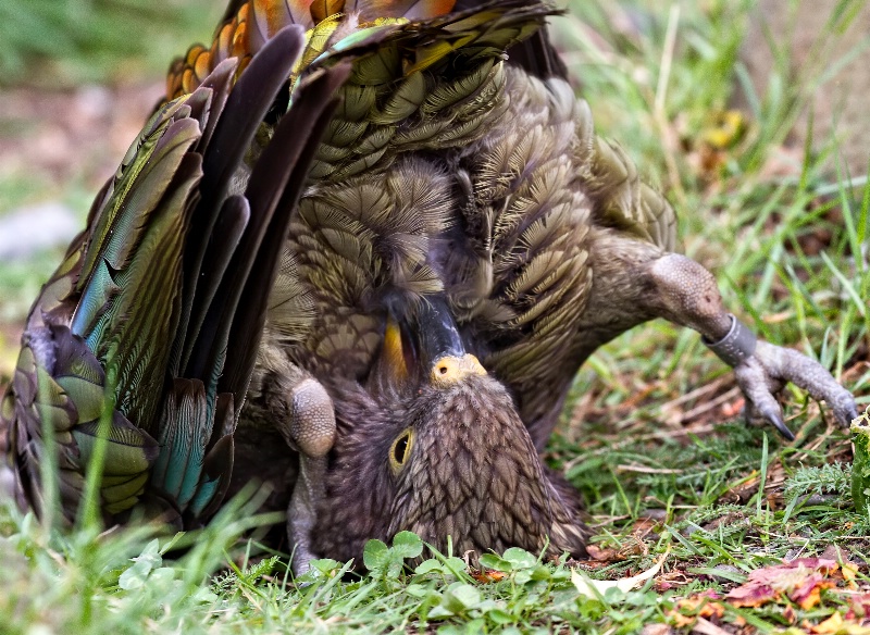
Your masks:
<svg viewBox="0 0 870 635"><path fill-rule="evenodd" d="M750 420L792 438L788 382L856 416L674 253L673 209L563 76L557 13L231 2L28 319L0 410L22 505L60 491L73 519L95 482L107 522L189 527L257 480L297 569L402 530L579 556L538 453L580 365L656 318L733 366Z"/></svg>

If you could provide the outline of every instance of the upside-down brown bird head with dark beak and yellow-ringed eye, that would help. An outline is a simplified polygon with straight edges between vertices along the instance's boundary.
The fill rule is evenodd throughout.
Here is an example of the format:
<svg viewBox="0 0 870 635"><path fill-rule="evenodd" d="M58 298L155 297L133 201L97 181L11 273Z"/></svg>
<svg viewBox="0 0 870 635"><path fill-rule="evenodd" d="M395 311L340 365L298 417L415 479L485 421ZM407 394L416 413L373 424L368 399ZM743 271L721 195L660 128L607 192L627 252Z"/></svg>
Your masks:
<svg viewBox="0 0 870 635"><path fill-rule="evenodd" d="M359 557L411 531L456 552L585 553L577 502L555 486L513 400L439 300L387 321L368 383L340 388L315 551Z"/></svg>

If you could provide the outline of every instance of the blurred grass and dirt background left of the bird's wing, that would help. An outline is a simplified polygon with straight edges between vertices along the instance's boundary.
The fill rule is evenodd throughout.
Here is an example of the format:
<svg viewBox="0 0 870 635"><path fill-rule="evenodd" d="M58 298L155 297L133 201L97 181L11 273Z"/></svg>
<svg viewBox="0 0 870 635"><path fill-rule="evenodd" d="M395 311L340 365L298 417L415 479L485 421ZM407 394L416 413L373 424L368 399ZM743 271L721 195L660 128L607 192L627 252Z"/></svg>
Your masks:
<svg viewBox="0 0 870 635"><path fill-rule="evenodd" d="M0 3L0 385L39 287L163 92L213 0Z"/></svg>

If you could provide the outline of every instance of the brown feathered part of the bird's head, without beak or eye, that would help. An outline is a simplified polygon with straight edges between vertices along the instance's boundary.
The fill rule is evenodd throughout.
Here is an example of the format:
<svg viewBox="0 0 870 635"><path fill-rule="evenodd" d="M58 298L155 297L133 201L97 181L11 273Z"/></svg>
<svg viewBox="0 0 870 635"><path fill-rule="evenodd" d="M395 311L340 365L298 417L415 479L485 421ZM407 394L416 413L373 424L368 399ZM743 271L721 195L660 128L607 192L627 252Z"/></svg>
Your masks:
<svg viewBox="0 0 870 635"><path fill-rule="evenodd" d="M327 476L332 500L319 510L316 552L359 558L372 536L402 530L444 550L481 553L521 547L585 555L579 501L543 468L510 395L490 376L413 400L381 403L359 386L338 388L339 434ZM384 455L410 429L402 470Z"/></svg>

